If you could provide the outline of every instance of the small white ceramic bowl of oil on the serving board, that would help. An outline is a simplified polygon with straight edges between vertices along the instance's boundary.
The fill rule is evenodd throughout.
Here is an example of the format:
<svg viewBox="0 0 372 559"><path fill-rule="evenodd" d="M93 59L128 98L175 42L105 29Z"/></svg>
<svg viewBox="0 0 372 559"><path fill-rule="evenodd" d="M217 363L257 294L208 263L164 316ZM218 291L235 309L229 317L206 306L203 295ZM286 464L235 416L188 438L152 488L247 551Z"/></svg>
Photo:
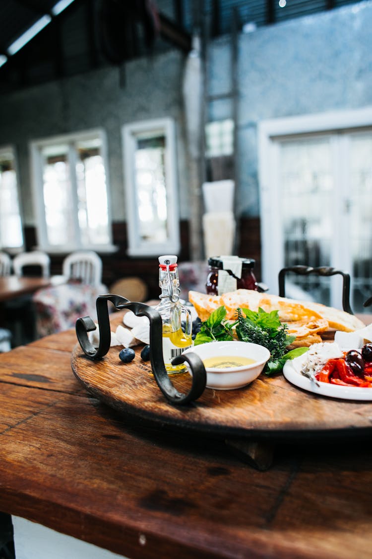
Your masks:
<svg viewBox="0 0 372 559"><path fill-rule="evenodd" d="M205 367L207 373L207 388L215 390L231 390L241 388L254 381L270 358L270 352L263 345L250 342L209 342L194 345L186 349L185 353L196 353L203 360L208 357L248 357L254 363L241 367L214 368Z"/></svg>

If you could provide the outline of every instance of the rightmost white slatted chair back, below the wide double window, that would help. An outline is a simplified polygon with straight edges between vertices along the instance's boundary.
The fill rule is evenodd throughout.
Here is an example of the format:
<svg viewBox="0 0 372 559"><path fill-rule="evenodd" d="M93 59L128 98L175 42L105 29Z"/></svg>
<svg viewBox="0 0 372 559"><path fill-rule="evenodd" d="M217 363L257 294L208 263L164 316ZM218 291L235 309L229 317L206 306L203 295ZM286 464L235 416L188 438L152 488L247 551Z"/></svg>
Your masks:
<svg viewBox="0 0 372 559"><path fill-rule="evenodd" d="M62 274L69 280L99 286L102 284L102 260L93 250L78 250L66 256Z"/></svg>

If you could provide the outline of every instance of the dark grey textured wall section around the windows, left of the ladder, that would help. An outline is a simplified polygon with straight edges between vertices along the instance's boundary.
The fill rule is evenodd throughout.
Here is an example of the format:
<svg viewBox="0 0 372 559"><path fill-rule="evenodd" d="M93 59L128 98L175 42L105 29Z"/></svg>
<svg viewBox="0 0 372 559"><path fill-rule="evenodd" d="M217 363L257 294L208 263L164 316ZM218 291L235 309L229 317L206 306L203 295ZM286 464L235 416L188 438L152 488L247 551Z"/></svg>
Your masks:
<svg viewBox="0 0 372 559"><path fill-rule="evenodd" d="M183 55L178 51L131 61L0 97L0 145L18 153L23 216L35 224L28 145L50 135L102 127L107 134L114 221L125 220L121 128L128 122L171 116L176 122L181 217L187 215L183 149ZM185 210L186 209L186 210Z"/></svg>

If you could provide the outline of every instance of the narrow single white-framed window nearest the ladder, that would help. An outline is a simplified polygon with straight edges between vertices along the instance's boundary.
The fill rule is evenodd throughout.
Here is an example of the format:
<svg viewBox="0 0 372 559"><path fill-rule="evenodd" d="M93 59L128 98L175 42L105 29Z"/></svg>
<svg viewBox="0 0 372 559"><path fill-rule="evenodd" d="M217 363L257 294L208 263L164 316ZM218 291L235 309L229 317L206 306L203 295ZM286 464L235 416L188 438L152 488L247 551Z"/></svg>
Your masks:
<svg viewBox="0 0 372 559"><path fill-rule="evenodd" d="M180 233L173 121L125 125L123 150L128 254L177 254Z"/></svg>

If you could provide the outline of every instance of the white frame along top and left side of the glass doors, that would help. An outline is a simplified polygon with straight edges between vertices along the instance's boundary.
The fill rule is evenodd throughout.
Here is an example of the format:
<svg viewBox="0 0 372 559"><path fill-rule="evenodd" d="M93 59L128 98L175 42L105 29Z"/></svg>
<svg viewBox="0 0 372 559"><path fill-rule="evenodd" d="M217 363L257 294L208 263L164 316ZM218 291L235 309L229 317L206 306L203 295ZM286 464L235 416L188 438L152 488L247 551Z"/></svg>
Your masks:
<svg viewBox="0 0 372 559"><path fill-rule="evenodd" d="M262 239L262 278L270 292L278 292L278 273L283 267L283 239L279 207L279 187L275 177L276 140L289 135L363 129L372 126L372 106L355 110L333 111L264 120L258 124L258 182ZM341 200L338 203L342 203ZM265 248L270 247L270 250ZM335 263L336 264L336 263ZM338 293L334 299L337 300Z"/></svg>

